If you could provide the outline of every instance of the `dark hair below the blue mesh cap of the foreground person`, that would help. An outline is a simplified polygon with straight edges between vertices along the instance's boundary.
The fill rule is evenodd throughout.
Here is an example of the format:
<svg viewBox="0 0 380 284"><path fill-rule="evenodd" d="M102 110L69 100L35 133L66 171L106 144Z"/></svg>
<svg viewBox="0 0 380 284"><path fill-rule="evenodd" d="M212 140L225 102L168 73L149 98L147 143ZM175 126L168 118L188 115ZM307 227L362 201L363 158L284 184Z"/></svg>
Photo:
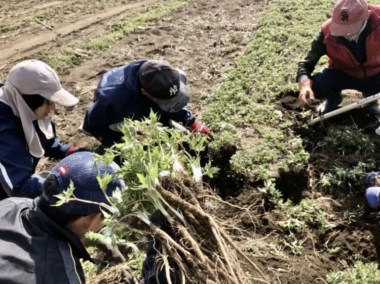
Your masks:
<svg viewBox="0 0 380 284"><path fill-rule="evenodd" d="M49 175L46 178L43 184L43 191L44 195L46 195L49 198L52 198L54 195L61 193L56 176ZM40 209L50 219L52 219L54 222L56 222L58 225L62 227L67 226L69 223L72 223L83 216L86 216L62 212L58 209L58 207L52 206L43 196L40 196L39 200L37 201L37 206L40 207Z"/></svg>

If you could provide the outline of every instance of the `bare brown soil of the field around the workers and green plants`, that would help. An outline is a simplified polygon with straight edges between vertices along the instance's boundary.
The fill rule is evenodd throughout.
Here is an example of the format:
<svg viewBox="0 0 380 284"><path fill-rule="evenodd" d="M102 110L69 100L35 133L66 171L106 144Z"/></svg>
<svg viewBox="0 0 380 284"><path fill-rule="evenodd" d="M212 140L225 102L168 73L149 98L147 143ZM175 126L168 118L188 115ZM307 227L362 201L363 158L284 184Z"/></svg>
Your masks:
<svg viewBox="0 0 380 284"><path fill-rule="evenodd" d="M79 133L78 127L92 104L93 91L101 75L134 60L164 59L186 72L192 93L188 108L202 121L208 94L217 90L225 72L234 68L257 23L272 3L267 0L194 0L160 19L138 26L103 51L87 54L83 50L88 41L108 32L116 23L160 3L166 1L0 1L0 81L5 80L9 69L20 60L44 59L47 54L59 56L68 45L76 46L80 62L59 68L59 76L62 85L80 102L71 109L57 108L54 121L62 141L78 147L94 147L98 141ZM295 121L292 131L305 139L305 147L311 153L310 165L297 172L280 172L276 187L284 199L295 205L309 198L311 203L306 208L338 216L329 223L333 230L317 233L318 228L311 227L300 233L297 240L291 239L290 225L281 225L289 212L273 210L272 200L262 197L257 189L267 186L263 181L222 174L209 181L225 201L234 205L216 203L215 215L228 225L246 254L273 284L326 283L328 273L349 267L355 255L360 255L364 262L380 261L380 226L376 216L358 214L365 204L363 195L347 194L345 188L346 197L342 198L342 192L327 193L325 187L313 179L332 161L343 159L339 153L329 153L318 144L326 127L354 121L377 143L379 138L373 134L376 119L351 112L308 129L303 127L306 120L300 115L296 95L284 94L278 101L278 110L285 120ZM356 92L347 92L344 104L358 97ZM316 100L314 105L318 103ZM223 173L228 173L233 152L221 151L214 157L215 166L222 168ZM355 160L355 155L346 155L346 159ZM42 159L37 170L49 169L54 164L55 161ZM357 185L353 188L354 192L360 190ZM336 203L335 199L345 203ZM309 212L307 210L303 212ZM302 250L297 250L297 246L302 246Z"/></svg>

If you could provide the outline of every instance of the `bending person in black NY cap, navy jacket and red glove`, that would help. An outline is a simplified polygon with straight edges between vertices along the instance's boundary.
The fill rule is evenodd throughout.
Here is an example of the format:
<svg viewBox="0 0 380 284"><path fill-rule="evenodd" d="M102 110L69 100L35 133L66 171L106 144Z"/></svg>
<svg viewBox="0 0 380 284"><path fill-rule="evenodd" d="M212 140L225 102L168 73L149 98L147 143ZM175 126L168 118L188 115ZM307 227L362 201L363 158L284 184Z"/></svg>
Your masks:
<svg viewBox="0 0 380 284"><path fill-rule="evenodd" d="M80 130L110 147L121 141L124 118L141 121L153 110L165 126L180 125L211 136L209 128L185 108L190 100L186 82L182 70L163 60L138 60L112 69L100 79Z"/></svg>

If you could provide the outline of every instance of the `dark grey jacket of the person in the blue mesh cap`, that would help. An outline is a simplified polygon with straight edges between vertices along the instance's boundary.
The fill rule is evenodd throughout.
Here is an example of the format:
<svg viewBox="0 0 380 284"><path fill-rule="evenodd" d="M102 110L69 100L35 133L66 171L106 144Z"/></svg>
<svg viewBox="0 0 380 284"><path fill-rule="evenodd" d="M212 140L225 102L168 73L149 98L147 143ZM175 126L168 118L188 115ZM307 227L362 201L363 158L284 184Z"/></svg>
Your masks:
<svg viewBox="0 0 380 284"><path fill-rule="evenodd" d="M0 283L84 284L81 240L27 198L0 201Z"/></svg>

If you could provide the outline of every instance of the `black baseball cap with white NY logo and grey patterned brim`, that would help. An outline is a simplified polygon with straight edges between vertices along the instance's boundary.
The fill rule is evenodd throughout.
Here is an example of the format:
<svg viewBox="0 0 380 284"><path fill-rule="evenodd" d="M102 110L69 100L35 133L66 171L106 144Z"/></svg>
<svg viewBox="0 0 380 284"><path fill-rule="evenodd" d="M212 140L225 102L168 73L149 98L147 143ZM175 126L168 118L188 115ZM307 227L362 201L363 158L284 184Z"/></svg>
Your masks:
<svg viewBox="0 0 380 284"><path fill-rule="evenodd" d="M141 87L153 97L153 102L166 112L180 111L190 100L190 92L180 80L178 70L167 61L146 61L140 67L139 79Z"/></svg>

